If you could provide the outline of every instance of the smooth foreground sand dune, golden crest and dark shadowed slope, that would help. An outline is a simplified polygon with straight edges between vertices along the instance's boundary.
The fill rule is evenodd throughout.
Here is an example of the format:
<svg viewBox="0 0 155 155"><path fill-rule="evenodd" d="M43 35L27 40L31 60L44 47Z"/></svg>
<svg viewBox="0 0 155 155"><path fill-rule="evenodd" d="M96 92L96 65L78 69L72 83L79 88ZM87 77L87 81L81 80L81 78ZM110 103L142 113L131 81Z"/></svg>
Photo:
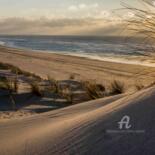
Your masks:
<svg viewBox="0 0 155 155"><path fill-rule="evenodd" d="M155 154L154 101L149 88L1 123L0 155ZM108 132L125 115L133 132Z"/></svg>

